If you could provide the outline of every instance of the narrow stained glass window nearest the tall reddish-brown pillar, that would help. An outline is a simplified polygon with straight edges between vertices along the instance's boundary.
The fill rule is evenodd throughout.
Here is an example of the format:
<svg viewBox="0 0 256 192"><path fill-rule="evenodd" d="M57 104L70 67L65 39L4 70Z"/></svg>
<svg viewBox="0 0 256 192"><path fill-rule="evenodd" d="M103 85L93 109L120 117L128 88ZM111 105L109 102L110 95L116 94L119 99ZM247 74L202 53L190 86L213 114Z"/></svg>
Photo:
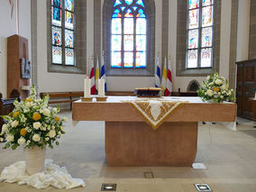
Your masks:
<svg viewBox="0 0 256 192"><path fill-rule="evenodd" d="M51 0L52 64L75 65L74 1Z"/></svg>

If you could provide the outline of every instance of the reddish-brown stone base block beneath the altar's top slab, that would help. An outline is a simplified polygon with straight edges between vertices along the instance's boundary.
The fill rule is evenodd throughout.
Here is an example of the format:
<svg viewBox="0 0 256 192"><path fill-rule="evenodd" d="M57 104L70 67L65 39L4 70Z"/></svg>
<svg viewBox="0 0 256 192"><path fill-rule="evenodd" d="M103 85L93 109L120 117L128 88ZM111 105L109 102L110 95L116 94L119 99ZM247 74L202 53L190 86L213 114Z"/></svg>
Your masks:
<svg viewBox="0 0 256 192"><path fill-rule="evenodd" d="M165 122L157 130L144 122L105 122L109 166L192 166L197 122Z"/></svg>

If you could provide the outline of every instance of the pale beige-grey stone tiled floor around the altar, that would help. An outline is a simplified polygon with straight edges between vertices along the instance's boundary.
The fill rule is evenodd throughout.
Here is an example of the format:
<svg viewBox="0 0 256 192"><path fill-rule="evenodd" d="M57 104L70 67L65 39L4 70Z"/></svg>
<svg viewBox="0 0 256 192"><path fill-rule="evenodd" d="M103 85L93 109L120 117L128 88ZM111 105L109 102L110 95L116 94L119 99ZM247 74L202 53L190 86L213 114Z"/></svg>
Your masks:
<svg viewBox="0 0 256 192"><path fill-rule="evenodd" d="M64 115L69 116L67 112ZM214 192L256 191L256 128L248 120L238 118L237 131L219 124L199 124L196 162L206 169L139 167L108 167L104 151L104 122L67 124L59 147L47 150L47 158L66 166L74 178L82 178L87 187L75 192L101 190L102 183L116 183L123 192L195 192L195 183L207 183ZM0 144L3 147L3 144ZM16 160L23 160L22 150L0 150L0 170ZM153 172L154 178L144 178ZM0 182L0 191L30 192L38 189ZM48 187L43 191L66 191Z"/></svg>

